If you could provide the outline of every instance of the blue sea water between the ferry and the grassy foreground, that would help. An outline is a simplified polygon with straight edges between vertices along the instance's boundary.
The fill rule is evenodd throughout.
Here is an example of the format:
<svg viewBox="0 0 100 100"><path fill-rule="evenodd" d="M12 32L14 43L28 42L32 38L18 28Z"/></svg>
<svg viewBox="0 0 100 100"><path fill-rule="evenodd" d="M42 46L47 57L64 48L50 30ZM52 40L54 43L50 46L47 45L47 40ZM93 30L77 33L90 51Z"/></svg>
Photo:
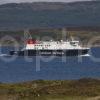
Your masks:
<svg viewBox="0 0 100 100"><path fill-rule="evenodd" d="M1 53L8 53L3 47ZM100 78L100 48L91 48L90 56L80 57L6 57L0 56L0 82L31 80L72 80Z"/></svg>

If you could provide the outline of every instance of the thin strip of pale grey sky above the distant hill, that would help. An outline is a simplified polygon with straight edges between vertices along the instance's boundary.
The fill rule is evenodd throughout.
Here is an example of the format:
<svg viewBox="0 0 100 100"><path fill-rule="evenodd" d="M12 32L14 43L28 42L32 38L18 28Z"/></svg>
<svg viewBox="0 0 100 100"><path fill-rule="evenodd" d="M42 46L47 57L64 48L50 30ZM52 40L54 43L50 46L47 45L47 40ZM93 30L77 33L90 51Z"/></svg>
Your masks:
<svg viewBox="0 0 100 100"><path fill-rule="evenodd" d="M38 1L49 1L49 2L72 2L72 1L90 1L90 0L0 0L0 4L4 3L20 3L20 2L38 2Z"/></svg>

